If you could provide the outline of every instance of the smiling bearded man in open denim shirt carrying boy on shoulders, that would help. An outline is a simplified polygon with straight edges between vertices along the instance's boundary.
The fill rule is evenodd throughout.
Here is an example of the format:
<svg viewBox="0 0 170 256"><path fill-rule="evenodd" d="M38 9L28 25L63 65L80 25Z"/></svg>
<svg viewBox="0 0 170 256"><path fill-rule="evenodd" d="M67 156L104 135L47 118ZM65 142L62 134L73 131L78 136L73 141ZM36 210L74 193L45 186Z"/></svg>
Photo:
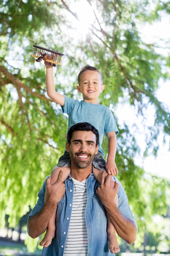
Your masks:
<svg viewBox="0 0 170 256"><path fill-rule="evenodd" d="M50 177L38 193L38 202L29 216L28 232L32 238L47 228L53 212L56 213L55 238L44 247L42 256L109 256L106 212L117 234L132 244L137 225L128 206L126 193L115 179L110 187L111 175L102 173L101 185L93 175L92 161L97 154L99 133L91 124L75 124L68 131L66 150L70 153L71 173L62 182L62 171L55 184ZM48 199L44 204L45 189ZM118 195L119 207L114 199ZM106 212L105 212L106 210Z"/></svg>

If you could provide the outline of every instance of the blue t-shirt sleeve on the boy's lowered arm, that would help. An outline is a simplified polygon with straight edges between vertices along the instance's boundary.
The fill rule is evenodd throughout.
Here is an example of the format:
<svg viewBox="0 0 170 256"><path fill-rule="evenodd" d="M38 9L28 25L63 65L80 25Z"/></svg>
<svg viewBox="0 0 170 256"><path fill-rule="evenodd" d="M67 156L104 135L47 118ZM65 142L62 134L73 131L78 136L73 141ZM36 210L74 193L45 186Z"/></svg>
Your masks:
<svg viewBox="0 0 170 256"><path fill-rule="evenodd" d="M108 109L108 111L106 112L104 132L107 135L108 132L113 131L115 131L116 135L119 133L113 113L111 112L111 110Z"/></svg>

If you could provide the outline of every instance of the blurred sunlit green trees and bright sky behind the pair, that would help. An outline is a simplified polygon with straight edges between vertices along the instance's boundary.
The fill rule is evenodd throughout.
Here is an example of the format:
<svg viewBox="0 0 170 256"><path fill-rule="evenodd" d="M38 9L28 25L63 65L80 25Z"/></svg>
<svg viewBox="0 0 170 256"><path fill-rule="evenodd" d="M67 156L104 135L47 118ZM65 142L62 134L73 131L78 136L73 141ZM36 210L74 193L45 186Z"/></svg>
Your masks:
<svg viewBox="0 0 170 256"><path fill-rule="evenodd" d="M31 56L33 45L64 53L54 81L69 97L82 99L81 67L101 70L100 103L119 128L117 177L139 229L133 245L119 240L120 254L170 253L169 1L0 0L2 236L7 217L18 231L65 146L68 118L46 94L45 66ZM106 138L103 145L107 157ZM23 234L33 252L39 239L27 236L25 220Z"/></svg>

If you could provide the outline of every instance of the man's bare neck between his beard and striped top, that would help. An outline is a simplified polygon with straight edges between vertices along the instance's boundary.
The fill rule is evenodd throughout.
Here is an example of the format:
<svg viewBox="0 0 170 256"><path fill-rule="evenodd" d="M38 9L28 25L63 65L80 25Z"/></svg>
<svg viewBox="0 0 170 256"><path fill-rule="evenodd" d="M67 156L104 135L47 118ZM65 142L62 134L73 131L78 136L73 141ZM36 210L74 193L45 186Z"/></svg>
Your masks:
<svg viewBox="0 0 170 256"><path fill-rule="evenodd" d="M92 173L92 164L86 168L78 168L75 164L71 163L71 177L79 182L86 180Z"/></svg>

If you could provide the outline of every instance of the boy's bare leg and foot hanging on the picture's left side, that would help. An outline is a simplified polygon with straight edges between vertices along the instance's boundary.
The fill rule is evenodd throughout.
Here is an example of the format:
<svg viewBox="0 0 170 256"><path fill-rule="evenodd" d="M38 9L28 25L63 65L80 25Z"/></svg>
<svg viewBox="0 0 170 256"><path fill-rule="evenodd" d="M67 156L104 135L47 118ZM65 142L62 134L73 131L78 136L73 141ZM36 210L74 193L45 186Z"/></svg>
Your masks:
<svg viewBox="0 0 170 256"><path fill-rule="evenodd" d="M58 175L60 173L60 170L63 171L62 182L64 182L66 180L66 178L68 177L68 175L70 173L70 167L58 167L51 173L51 184L56 182ZM47 199L47 194L45 192L44 202L46 202L46 199ZM40 245L42 245L44 247L48 247L49 245L51 245L52 239L55 237L56 211L57 211L57 208L55 209L53 215L51 216L51 219L49 220L49 224L48 224L48 227L46 230L46 234L45 234L44 238L42 239L42 241L40 242Z"/></svg>

